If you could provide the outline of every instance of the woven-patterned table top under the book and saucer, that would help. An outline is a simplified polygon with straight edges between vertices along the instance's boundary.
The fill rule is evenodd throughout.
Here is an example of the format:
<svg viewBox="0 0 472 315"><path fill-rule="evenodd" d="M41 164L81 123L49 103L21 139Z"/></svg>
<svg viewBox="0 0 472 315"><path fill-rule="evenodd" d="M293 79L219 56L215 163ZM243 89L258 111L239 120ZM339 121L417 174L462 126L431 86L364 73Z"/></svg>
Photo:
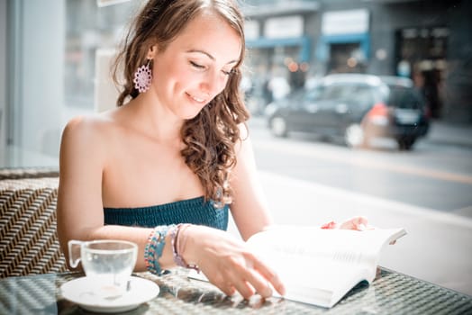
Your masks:
<svg viewBox="0 0 472 315"><path fill-rule="evenodd" d="M378 268L373 284L358 284L331 309L284 299L243 300L212 284L190 280L186 270L168 275L138 273L159 284L159 295L126 314L472 314L472 297L408 275ZM0 314L87 314L68 302L60 286L81 273L12 276L0 279Z"/></svg>

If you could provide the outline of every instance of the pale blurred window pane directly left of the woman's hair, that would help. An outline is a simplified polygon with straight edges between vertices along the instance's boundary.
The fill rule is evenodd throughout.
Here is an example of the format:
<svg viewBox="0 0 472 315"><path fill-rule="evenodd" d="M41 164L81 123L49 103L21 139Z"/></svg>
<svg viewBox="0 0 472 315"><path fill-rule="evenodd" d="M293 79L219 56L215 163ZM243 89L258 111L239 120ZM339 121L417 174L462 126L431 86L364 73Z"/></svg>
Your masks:
<svg viewBox="0 0 472 315"><path fill-rule="evenodd" d="M68 106L93 109L100 50L123 39L139 1L97 6L96 0L66 0L65 89Z"/></svg>

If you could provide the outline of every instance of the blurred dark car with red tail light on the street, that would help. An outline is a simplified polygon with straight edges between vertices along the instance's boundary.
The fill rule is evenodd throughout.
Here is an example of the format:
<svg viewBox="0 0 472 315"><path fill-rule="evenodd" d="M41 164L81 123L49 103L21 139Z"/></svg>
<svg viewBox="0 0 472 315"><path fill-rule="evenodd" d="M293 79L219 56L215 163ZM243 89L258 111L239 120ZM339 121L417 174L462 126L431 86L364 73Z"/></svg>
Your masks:
<svg viewBox="0 0 472 315"><path fill-rule="evenodd" d="M397 76L339 74L297 90L266 108L277 137L290 131L342 137L349 147L369 147L375 139L395 139L411 149L429 130L425 103L413 81Z"/></svg>

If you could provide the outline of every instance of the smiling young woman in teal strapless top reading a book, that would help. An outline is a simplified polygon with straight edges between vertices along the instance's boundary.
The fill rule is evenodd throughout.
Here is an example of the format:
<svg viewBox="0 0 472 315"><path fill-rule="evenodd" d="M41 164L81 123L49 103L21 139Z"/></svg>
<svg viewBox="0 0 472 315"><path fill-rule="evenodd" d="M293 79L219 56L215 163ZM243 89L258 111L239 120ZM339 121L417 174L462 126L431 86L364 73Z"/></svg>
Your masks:
<svg viewBox="0 0 472 315"><path fill-rule="evenodd" d="M243 239L272 220L256 180L239 83L243 18L231 0L150 0L118 56L118 107L68 122L58 233L139 246L136 271L199 268L231 295L284 294ZM359 218L346 224L356 229ZM365 223L365 222L364 222Z"/></svg>

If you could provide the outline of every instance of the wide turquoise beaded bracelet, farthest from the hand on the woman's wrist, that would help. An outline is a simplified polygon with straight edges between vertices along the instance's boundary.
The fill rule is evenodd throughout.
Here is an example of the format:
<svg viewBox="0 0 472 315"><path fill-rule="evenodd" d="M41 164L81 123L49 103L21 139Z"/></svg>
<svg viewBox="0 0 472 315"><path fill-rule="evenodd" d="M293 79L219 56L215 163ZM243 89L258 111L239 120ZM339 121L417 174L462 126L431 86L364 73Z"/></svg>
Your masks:
<svg viewBox="0 0 472 315"><path fill-rule="evenodd" d="M144 247L144 262L146 263L146 269L153 274L160 275L162 273L159 258L162 256L162 251L166 245L168 229L175 227L175 225L160 225L150 232L146 247Z"/></svg>

